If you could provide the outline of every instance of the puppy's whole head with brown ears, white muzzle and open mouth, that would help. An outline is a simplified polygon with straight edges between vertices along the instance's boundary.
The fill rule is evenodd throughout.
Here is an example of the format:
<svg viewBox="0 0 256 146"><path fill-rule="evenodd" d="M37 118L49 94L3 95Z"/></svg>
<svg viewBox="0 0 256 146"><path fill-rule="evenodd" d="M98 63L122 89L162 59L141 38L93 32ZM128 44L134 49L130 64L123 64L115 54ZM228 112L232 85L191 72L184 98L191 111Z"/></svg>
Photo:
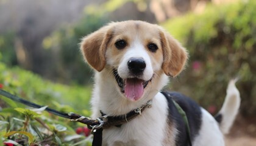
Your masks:
<svg viewBox="0 0 256 146"><path fill-rule="evenodd" d="M112 72L117 90L132 101L155 78L175 77L187 60L186 50L162 27L143 21L110 23L86 36L80 48L92 68Z"/></svg>

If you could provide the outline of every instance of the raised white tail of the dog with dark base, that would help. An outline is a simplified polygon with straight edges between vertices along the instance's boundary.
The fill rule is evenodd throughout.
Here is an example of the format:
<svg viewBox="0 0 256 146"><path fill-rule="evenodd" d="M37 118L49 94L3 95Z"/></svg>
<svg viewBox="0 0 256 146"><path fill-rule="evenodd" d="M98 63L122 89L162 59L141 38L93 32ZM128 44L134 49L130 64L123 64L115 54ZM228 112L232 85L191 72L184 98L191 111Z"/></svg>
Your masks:
<svg viewBox="0 0 256 146"><path fill-rule="evenodd" d="M218 121L219 128L223 134L229 133L229 129L232 126L240 107L240 92L235 86L236 81L237 79L233 79L229 82L225 101L221 110L215 116L215 119Z"/></svg>

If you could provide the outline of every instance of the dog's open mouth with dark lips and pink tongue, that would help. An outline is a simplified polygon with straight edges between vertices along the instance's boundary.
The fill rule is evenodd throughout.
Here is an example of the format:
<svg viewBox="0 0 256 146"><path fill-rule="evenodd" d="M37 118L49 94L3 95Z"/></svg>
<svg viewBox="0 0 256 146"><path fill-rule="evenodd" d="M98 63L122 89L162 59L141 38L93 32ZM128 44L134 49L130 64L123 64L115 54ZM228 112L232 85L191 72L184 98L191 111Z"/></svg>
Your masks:
<svg viewBox="0 0 256 146"><path fill-rule="evenodd" d="M118 86L121 88L121 92L132 101L140 99L143 96L144 88L148 86L152 78L148 81L141 80L140 78L121 78L116 69L113 69L113 75L116 78Z"/></svg>

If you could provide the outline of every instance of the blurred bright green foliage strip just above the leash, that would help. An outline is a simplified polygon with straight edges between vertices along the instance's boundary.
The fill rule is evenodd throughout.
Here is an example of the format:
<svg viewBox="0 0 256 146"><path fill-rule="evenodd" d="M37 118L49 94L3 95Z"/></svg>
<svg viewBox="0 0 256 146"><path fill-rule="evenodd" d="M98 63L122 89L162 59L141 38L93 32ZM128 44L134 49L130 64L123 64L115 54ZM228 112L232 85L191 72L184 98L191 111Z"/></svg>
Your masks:
<svg viewBox="0 0 256 146"><path fill-rule="evenodd" d="M4 86L5 91L41 105L52 106L65 112L79 111L82 112L80 114L90 115L87 111L90 109L88 103L91 93L90 86L85 88L77 85L52 83L30 71L18 67L7 68L2 62L0 62L0 83ZM76 109L71 107L76 107Z"/></svg>

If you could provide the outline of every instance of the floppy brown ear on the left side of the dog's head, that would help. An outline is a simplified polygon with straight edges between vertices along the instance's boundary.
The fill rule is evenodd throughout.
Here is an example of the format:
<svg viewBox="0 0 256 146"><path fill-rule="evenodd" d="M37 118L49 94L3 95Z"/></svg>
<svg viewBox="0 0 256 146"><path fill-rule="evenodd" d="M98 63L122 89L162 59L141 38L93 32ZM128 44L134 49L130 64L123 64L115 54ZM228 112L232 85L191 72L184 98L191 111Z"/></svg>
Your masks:
<svg viewBox="0 0 256 146"><path fill-rule="evenodd" d="M80 50L88 64L97 71L102 71L105 66L105 52L107 43L112 36L109 26L102 27L96 32L85 36L80 43Z"/></svg>

